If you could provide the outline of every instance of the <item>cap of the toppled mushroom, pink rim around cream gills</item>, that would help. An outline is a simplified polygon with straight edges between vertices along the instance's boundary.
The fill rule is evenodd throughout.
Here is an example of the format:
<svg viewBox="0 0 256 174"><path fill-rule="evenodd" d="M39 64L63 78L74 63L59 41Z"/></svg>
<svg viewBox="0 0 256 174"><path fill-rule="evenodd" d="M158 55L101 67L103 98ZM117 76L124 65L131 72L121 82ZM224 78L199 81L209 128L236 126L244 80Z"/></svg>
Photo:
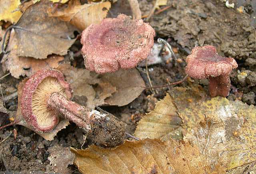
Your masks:
<svg viewBox="0 0 256 174"><path fill-rule="evenodd" d="M38 132L51 131L58 124L58 115L46 104L52 92L72 97L70 84L58 70L42 69L33 74L22 89L21 112L28 124Z"/></svg>

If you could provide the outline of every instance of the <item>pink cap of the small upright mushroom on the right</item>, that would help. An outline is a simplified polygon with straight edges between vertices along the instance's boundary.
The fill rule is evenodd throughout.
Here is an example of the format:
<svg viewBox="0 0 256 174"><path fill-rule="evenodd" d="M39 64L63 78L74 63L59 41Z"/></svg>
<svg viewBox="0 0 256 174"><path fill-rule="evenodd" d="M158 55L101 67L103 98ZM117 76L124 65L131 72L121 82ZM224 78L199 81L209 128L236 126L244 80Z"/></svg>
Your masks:
<svg viewBox="0 0 256 174"><path fill-rule="evenodd" d="M233 58L219 56L216 48L211 45L193 48L186 63L186 73L196 79L229 75L238 66Z"/></svg>

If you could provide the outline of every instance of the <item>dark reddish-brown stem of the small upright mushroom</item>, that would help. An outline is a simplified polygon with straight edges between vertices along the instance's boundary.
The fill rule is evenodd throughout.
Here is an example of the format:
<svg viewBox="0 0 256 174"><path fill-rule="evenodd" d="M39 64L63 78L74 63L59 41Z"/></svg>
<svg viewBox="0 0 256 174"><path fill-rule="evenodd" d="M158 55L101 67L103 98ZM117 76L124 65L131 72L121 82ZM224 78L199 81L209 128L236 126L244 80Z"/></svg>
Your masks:
<svg viewBox="0 0 256 174"><path fill-rule="evenodd" d="M209 77L209 91L212 97L222 96L226 97L230 91L230 77L229 75L222 75L217 77Z"/></svg>

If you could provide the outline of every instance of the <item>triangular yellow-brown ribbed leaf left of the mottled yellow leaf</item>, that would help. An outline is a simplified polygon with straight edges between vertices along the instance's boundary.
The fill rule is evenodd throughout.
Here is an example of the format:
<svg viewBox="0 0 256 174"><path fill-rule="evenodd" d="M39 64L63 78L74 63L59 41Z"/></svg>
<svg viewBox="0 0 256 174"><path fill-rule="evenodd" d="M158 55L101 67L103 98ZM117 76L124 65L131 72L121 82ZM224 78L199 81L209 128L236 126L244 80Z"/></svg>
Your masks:
<svg viewBox="0 0 256 174"><path fill-rule="evenodd" d="M134 136L139 138L182 139L182 119L178 115L173 99L167 94L156 103L153 111L146 114L136 128Z"/></svg>

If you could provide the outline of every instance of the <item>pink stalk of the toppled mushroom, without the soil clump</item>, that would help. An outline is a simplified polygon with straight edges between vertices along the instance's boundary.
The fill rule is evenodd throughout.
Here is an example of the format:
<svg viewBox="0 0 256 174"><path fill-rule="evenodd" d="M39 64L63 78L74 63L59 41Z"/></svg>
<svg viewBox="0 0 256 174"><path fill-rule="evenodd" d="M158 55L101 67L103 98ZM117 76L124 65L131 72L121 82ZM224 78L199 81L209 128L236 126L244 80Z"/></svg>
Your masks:
<svg viewBox="0 0 256 174"><path fill-rule="evenodd" d="M50 95L47 104L57 114L71 120L87 131L91 130L91 122L97 122L97 118L106 116L106 114L97 110L72 102L58 92L53 92Z"/></svg>

